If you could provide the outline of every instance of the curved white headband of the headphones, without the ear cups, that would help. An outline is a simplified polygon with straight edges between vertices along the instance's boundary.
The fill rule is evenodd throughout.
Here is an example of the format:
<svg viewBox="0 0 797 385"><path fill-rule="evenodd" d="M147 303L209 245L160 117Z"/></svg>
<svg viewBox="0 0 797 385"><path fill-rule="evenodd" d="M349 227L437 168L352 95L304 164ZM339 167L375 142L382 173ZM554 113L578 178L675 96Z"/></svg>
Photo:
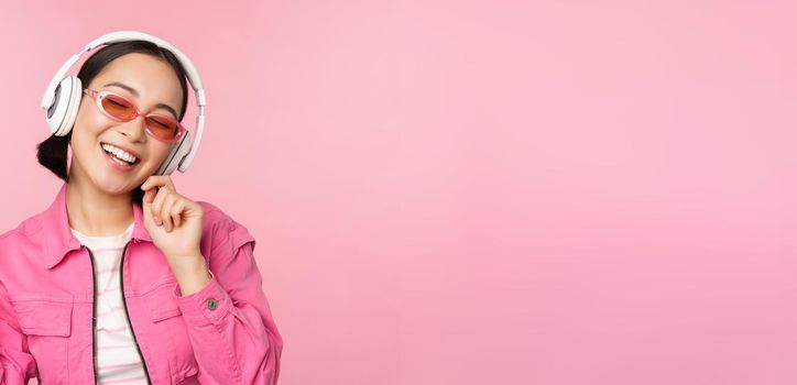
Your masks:
<svg viewBox="0 0 797 385"><path fill-rule="evenodd" d="M44 96L42 97L42 108L48 109L53 106L54 99L55 99L55 91L61 81L66 76L66 73L72 68L77 61L80 59L80 56L89 52L97 46L100 45L107 45L118 42L127 42L127 41L134 41L134 40L141 40L145 42L153 43L162 48L168 50L174 54L175 57L179 61L179 63L183 65L186 72L186 77L188 78L188 82L190 84L190 87L194 89L194 92L196 95L196 103L198 107L198 114L196 119L196 136L194 138L194 141L192 143L190 151L185 155L185 157L179 162L179 170L185 172L188 169L188 166L190 165L192 161L194 160L194 156L196 155L197 148L199 147L199 143L201 142L203 131L205 127L205 89L203 88L201 79L199 78L199 73L197 72L196 67L194 66L194 63L188 58L186 54L184 54L182 51L177 50L174 45L170 44L168 42L164 41L163 38L160 38L157 36L153 36L143 32L139 31L116 31L107 33L98 38L95 38L90 43L86 45L83 51L78 52L75 55L72 55L64 65L61 66L57 73L55 73L55 76L52 80L50 80L50 85L47 85L47 89L44 91ZM168 161L168 160L167 160Z"/></svg>

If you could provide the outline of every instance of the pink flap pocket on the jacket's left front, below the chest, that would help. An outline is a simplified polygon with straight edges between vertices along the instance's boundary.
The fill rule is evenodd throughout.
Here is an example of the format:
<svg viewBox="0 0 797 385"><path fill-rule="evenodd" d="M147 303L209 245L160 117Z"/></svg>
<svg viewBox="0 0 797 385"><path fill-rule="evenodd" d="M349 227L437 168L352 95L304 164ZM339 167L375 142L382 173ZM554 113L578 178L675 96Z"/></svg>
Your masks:
<svg viewBox="0 0 797 385"><path fill-rule="evenodd" d="M42 384L68 384L68 341L73 304L42 299L11 299L28 349L36 361Z"/></svg>

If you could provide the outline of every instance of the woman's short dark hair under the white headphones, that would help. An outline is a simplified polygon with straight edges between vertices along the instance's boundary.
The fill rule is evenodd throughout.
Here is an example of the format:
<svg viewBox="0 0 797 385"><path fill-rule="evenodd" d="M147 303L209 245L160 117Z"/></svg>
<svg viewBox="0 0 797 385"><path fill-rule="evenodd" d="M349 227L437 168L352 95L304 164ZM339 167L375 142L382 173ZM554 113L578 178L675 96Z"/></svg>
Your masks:
<svg viewBox="0 0 797 385"><path fill-rule="evenodd" d="M83 84L83 88L86 89L94 78L110 64L113 59L132 53L142 53L155 56L165 61L168 65L174 68L174 72L179 78L179 85L183 88L183 105L179 109L179 117L177 120L183 121L185 116L186 105L188 103L188 85L186 84L186 73L183 64L177 57L168 50L162 48L156 44L148 41L127 41L119 43L111 43L91 55L80 67L77 77ZM69 140L72 140L72 132L64 136L51 135L44 142L36 145L37 152L36 157L39 163L53 172L57 177L64 182L69 182L69 173L66 168L67 165L67 150ZM139 206L142 205L144 198L144 191L141 188L135 188L132 191L132 200Z"/></svg>

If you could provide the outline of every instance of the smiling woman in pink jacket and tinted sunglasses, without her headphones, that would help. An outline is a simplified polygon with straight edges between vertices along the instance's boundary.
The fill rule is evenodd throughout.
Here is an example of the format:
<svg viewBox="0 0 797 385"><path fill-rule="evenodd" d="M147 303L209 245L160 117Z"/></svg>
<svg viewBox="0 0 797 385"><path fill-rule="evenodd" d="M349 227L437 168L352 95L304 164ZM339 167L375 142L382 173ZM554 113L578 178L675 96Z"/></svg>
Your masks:
<svg viewBox="0 0 797 385"><path fill-rule="evenodd" d="M149 41L81 66L72 131L39 145L64 185L0 235L0 384L276 383L254 239L155 175L184 134L185 74Z"/></svg>

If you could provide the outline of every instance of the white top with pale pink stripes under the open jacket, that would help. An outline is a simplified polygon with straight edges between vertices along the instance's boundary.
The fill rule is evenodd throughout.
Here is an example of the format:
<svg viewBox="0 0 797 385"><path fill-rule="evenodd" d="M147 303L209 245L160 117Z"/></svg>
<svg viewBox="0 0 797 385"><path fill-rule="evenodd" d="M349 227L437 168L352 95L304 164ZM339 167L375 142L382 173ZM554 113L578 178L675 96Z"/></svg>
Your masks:
<svg viewBox="0 0 797 385"><path fill-rule="evenodd" d="M70 229L91 250L97 282L97 380L100 384L146 384L122 304L120 271L122 250L133 235L133 224L118 235L88 237Z"/></svg>

